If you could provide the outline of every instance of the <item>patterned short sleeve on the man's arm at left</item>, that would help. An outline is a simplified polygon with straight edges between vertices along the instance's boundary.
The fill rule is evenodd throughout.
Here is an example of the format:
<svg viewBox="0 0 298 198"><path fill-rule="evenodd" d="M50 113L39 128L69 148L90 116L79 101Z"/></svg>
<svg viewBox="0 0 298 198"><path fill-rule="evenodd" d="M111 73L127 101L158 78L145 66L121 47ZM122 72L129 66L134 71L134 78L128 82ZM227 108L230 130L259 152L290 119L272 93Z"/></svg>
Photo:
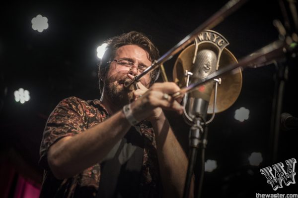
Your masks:
<svg viewBox="0 0 298 198"><path fill-rule="evenodd" d="M58 140L85 130L82 102L70 97L62 100L50 114L40 146L39 164L49 170L47 153Z"/></svg>

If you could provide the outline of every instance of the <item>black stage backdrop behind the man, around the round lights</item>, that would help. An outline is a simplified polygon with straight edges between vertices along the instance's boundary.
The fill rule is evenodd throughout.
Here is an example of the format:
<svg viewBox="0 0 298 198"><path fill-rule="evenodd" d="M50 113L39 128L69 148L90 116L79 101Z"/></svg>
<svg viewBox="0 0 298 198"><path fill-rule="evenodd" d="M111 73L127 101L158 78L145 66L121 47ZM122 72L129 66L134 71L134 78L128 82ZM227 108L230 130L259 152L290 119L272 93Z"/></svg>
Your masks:
<svg viewBox="0 0 298 198"><path fill-rule="evenodd" d="M58 102L70 96L99 99L96 48L110 37L128 31L149 36L160 55L218 11L225 0L174 2L54 2L9 1L0 7L0 157L33 180L42 181L39 145L47 117ZM41 14L49 28L31 28ZM230 43L236 58L244 57L279 38L272 21L283 22L277 0L250 0L213 30ZM168 78L176 56L165 63ZM297 64L289 66L282 112L298 116ZM239 98L216 115L209 127L206 159L218 167L205 174L203 197L254 197L255 193L297 193L297 184L273 191L259 169L272 166L270 122L276 68L273 64L242 72ZM159 79L161 81L161 77ZM30 92L24 104L14 100L20 87ZM250 110L249 119L233 118L236 109ZM182 117L167 112L175 134L188 150L188 130ZM277 162L298 159L298 131L280 131ZM248 157L261 152L264 161L250 166ZM286 164L285 164L286 165ZM296 171L297 172L297 171Z"/></svg>

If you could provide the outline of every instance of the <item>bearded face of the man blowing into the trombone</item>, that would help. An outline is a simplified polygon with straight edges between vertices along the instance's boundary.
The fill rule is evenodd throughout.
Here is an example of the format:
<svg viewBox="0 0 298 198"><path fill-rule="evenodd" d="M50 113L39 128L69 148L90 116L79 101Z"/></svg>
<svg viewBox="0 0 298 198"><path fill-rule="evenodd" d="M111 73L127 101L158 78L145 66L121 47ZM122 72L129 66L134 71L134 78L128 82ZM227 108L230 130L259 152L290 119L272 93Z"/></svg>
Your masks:
<svg viewBox="0 0 298 198"><path fill-rule="evenodd" d="M119 65L117 65L117 71L116 61L112 61L110 63L109 71L104 77L104 94L110 99L111 102L121 108L125 104L134 100L133 91L124 87L124 82L129 79L128 75L139 75L140 71L138 71L137 66L150 66L151 61L149 60L148 52L136 45L126 45L120 47L117 49L114 59L124 59L134 63L131 68L124 68L127 70L127 72L123 72L123 70L121 70L122 73L120 73ZM145 87L149 87L149 74L142 78L141 83Z"/></svg>

